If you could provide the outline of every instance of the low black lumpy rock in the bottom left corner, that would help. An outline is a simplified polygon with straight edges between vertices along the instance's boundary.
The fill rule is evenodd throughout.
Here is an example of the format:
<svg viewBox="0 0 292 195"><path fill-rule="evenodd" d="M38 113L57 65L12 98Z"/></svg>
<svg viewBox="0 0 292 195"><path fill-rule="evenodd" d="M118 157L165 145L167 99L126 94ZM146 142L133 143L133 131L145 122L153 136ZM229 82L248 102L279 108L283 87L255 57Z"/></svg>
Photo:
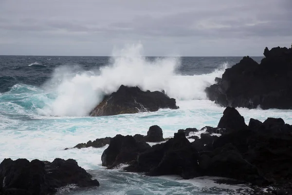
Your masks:
<svg viewBox="0 0 292 195"><path fill-rule="evenodd" d="M0 194L48 195L68 184L99 186L73 159L56 158L51 162L4 159L0 164Z"/></svg>

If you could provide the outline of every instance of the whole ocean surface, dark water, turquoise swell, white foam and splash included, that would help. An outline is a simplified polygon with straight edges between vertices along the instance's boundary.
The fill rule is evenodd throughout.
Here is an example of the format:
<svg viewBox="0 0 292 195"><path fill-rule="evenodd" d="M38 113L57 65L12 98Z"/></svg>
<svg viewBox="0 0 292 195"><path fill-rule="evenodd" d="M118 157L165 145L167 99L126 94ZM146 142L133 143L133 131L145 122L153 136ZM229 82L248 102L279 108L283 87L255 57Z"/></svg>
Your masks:
<svg viewBox="0 0 292 195"><path fill-rule="evenodd" d="M260 62L263 57L253 57ZM217 126L223 107L206 98L204 89L242 57L143 57L139 48L113 57L0 56L0 161L27 158L52 161L73 158L100 182L100 187L68 186L62 195L233 195L244 185L223 185L211 177L182 180L148 177L101 166L103 148L70 149L101 137L146 135L159 125L164 137L178 129ZM162 90L178 110L89 117L103 98L121 85ZM292 124L291 110L238 108L248 123L282 117ZM198 134L200 134L199 132ZM248 194L248 193L247 193Z"/></svg>

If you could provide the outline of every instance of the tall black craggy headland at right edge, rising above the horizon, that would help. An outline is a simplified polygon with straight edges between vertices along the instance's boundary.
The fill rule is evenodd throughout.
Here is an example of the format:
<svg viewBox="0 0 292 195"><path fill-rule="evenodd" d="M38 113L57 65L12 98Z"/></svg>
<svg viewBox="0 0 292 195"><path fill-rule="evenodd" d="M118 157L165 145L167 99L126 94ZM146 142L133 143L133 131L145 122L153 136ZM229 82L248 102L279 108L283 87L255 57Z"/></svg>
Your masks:
<svg viewBox="0 0 292 195"><path fill-rule="evenodd" d="M207 97L225 107L292 109L292 48L266 48L264 56L260 64L247 56L226 69Z"/></svg>

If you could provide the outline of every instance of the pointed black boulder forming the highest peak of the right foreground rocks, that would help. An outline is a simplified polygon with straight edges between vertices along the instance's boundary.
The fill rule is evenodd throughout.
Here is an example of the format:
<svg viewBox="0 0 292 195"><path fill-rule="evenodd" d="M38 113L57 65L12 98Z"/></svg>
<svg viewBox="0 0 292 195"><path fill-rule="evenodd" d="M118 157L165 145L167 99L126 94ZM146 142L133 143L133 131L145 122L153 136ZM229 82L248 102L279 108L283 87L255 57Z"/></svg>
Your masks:
<svg viewBox="0 0 292 195"><path fill-rule="evenodd" d="M235 108L227 107L223 112L218 128L229 130L247 129L244 117L242 117Z"/></svg>

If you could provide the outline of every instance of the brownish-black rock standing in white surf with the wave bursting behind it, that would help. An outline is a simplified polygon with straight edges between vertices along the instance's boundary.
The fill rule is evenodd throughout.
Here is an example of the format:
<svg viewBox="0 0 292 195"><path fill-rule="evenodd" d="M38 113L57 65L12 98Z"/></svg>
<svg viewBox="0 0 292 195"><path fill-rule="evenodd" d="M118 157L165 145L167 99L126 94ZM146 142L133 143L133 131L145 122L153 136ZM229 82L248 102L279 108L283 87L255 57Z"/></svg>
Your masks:
<svg viewBox="0 0 292 195"><path fill-rule="evenodd" d="M92 117L155 112L160 108L178 109L174 98L163 92L141 91L138 87L121 85L117 92L106 96L90 113Z"/></svg>

